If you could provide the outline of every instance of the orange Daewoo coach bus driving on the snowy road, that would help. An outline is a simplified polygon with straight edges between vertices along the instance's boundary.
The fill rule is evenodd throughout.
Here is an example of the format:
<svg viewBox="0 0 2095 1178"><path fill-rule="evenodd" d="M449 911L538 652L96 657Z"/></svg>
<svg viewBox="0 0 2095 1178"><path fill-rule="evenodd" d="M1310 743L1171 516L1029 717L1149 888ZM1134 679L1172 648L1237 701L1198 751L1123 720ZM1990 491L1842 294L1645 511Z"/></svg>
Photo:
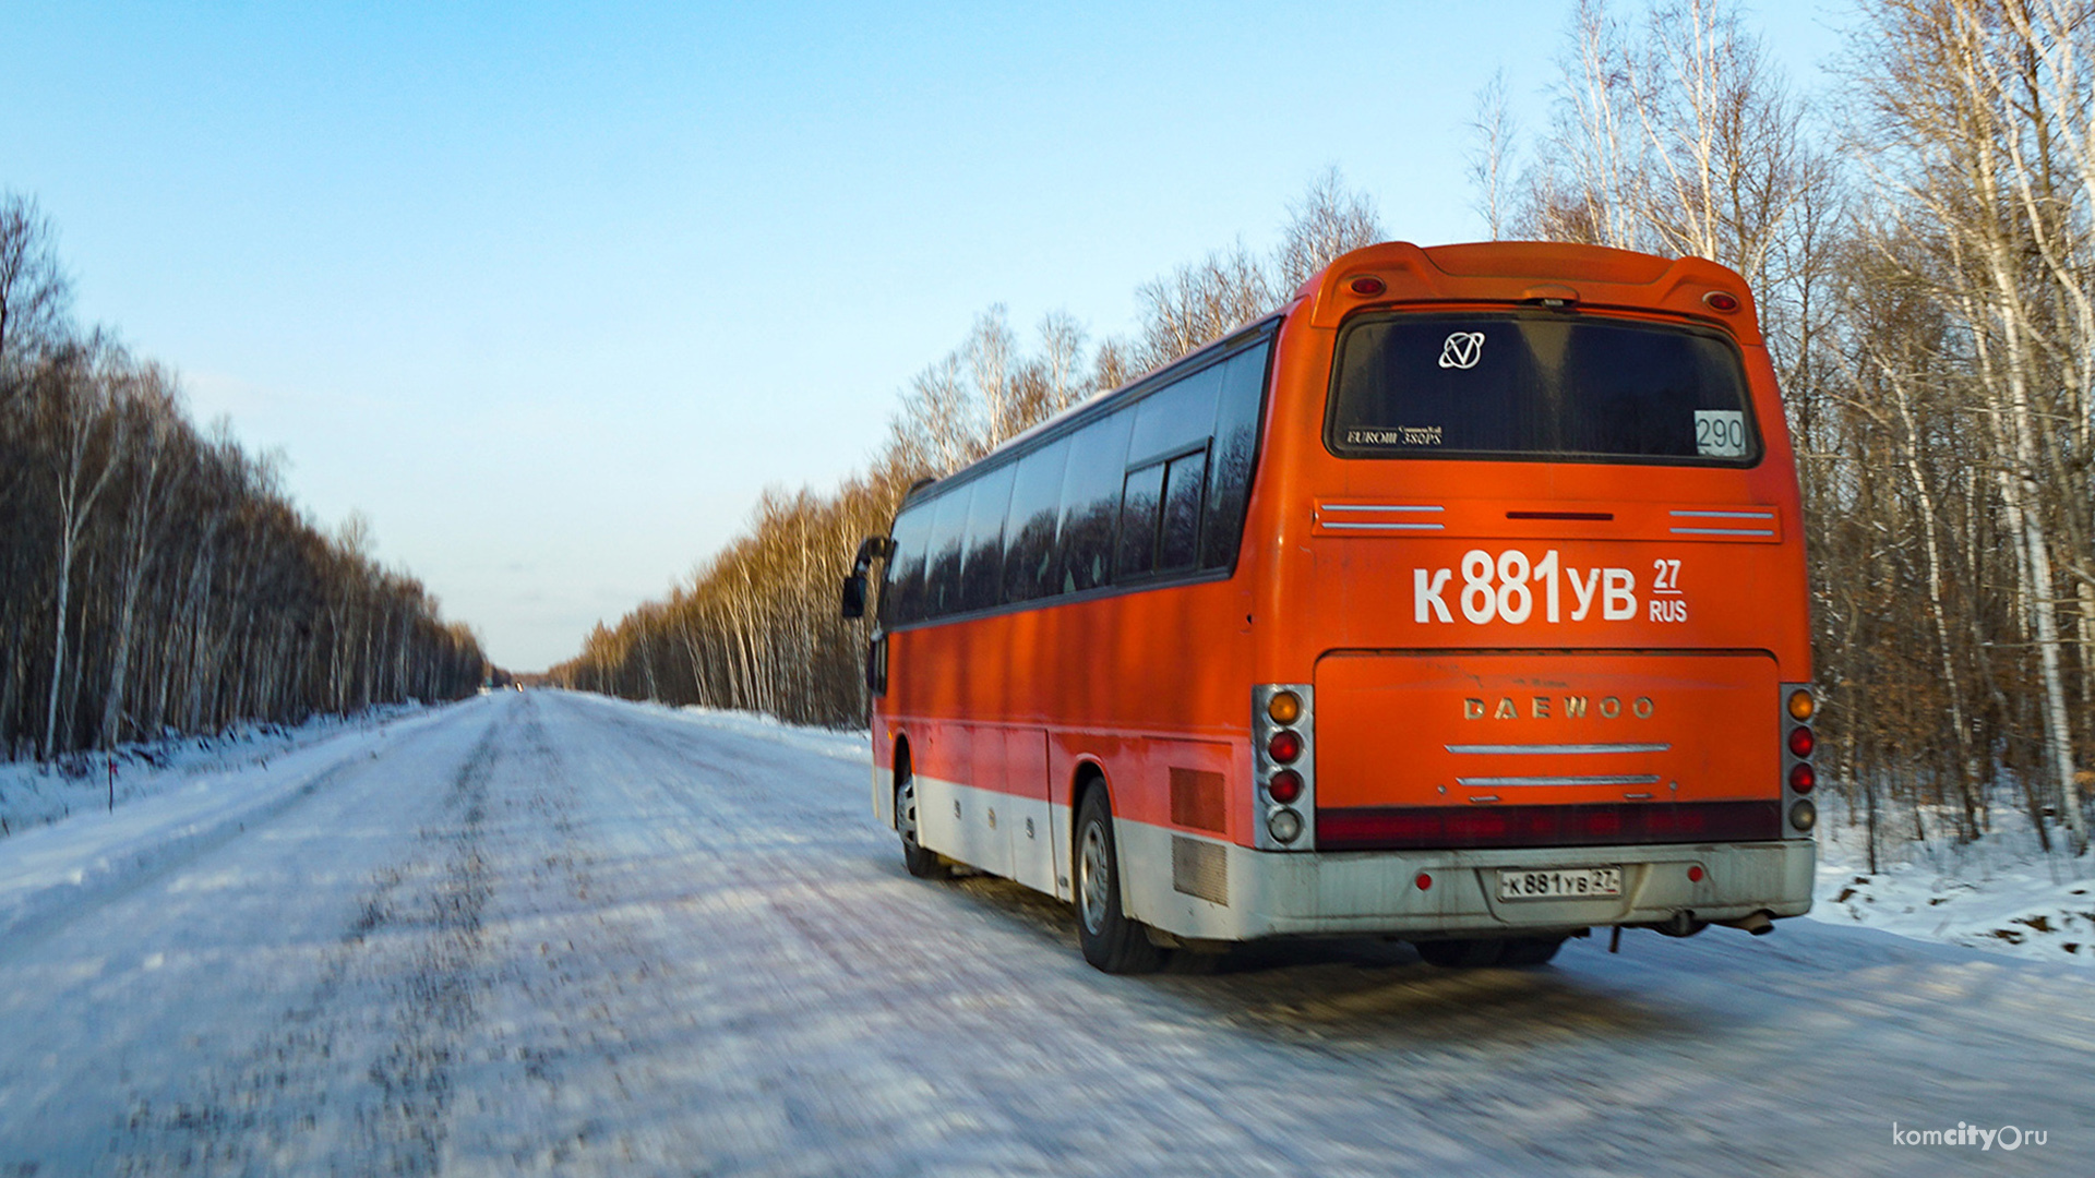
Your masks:
<svg viewBox="0 0 2095 1178"><path fill-rule="evenodd" d="M916 488L874 811L1115 973L1299 935L1540 964L1810 908L1804 522L1739 275L1385 243Z"/></svg>

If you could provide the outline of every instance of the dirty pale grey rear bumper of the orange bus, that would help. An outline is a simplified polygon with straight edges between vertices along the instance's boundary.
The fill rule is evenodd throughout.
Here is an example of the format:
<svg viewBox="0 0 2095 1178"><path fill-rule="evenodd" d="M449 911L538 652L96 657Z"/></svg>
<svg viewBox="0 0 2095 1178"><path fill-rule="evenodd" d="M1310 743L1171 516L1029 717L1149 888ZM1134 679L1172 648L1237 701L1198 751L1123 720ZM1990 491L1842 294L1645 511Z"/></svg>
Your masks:
<svg viewBox="0 0 2095 1178"><path fill-rule="evenodd" d="M1142 864L1129 908L1148 924L1194 939L1291 935L1515 937L1605 924L1739 920L1812 908L1810 838L1724 845L1550 847L1492 851L1274 853L1123 824ZM1127 843L1123 843L1127 845ZM1148 853L1144 853L1148 851ZM1131 855L1133 859L1133 855ZM1194 868L1205 868L1190 872ZM1223 866L1226 864L1226 866ZM1221 872L1215 872L1223 866ZM1622 895L1502 899L1500 872L1622 868ZM1699 872L1695 872L1699 868ZM1697 878L1699 874L1699 878ZM1161 878L1159 878L1161 876ZM1219 878L1217 878L1219 876ZM1192 891L1190 891L1192 889Z"/></svg>

